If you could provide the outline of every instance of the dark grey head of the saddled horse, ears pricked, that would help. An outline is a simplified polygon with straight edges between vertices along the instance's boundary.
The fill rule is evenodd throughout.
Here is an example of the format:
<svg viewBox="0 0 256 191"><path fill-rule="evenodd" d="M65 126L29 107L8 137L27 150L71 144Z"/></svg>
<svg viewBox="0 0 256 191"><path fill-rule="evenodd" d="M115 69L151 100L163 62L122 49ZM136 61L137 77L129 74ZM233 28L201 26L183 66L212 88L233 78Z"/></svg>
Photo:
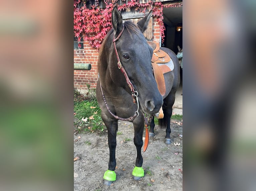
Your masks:
<svg viewBox="0 0 256 191"><path fill-rule="evenodd" d="M122 15L115 6L112 11L114 46L109 49L109 70L114 84L123 87L131 93L120 68L117 66L120 59L121 66L127 73L134 89L138 92L140 107L144 113L154 114L163 104L151 67L152 48L147 44L143 32L147 29L152 12L150 11L137 25L131 21L123 23ZM116 52L118 56L116 55Z"/></svg>

